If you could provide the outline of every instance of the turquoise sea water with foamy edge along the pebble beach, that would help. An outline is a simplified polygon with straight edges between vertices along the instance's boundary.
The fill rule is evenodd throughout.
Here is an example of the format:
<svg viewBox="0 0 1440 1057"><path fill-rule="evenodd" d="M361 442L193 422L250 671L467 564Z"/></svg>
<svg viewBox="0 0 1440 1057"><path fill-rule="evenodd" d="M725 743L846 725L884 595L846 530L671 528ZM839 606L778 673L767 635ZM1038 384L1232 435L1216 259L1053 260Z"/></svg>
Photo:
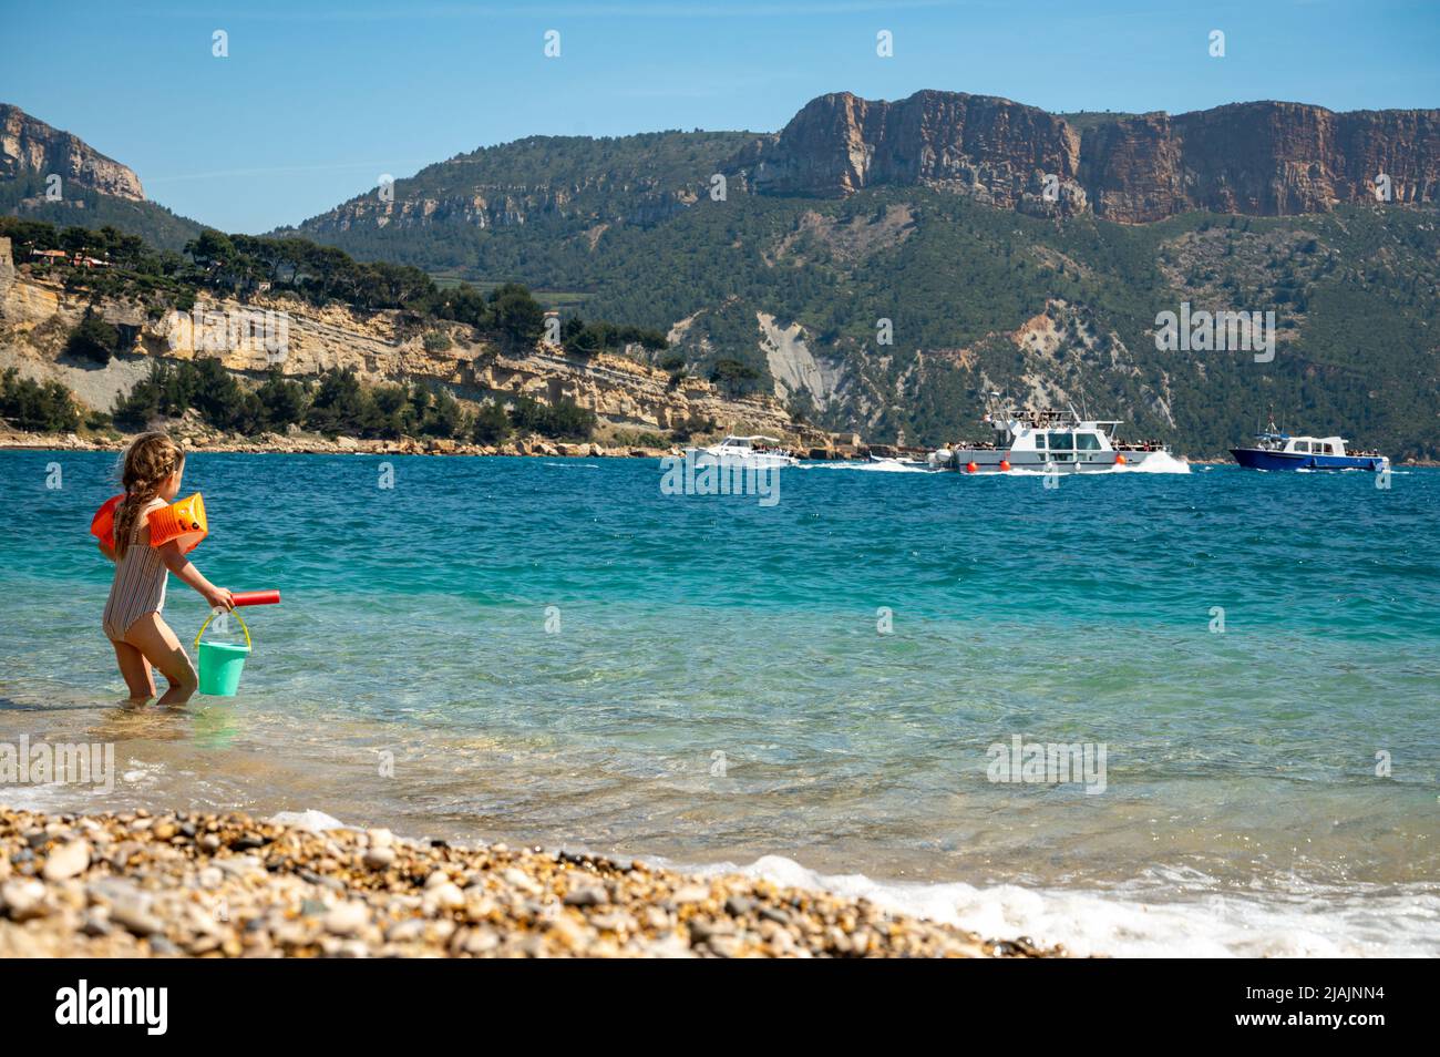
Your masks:
<svg viewBox="0 0 1440 1057"><path fill-rule="evenodd" d="M824 465L766 508L655 462L200 454L199 566L285 602L239 697L160 713L99 631L114 462L0 452L0 740L125 772L12 804L759 860L1115 953L1440 953L1440 472ZM1103 743L1104 792L991 782L1017 734Z"/></svg>

